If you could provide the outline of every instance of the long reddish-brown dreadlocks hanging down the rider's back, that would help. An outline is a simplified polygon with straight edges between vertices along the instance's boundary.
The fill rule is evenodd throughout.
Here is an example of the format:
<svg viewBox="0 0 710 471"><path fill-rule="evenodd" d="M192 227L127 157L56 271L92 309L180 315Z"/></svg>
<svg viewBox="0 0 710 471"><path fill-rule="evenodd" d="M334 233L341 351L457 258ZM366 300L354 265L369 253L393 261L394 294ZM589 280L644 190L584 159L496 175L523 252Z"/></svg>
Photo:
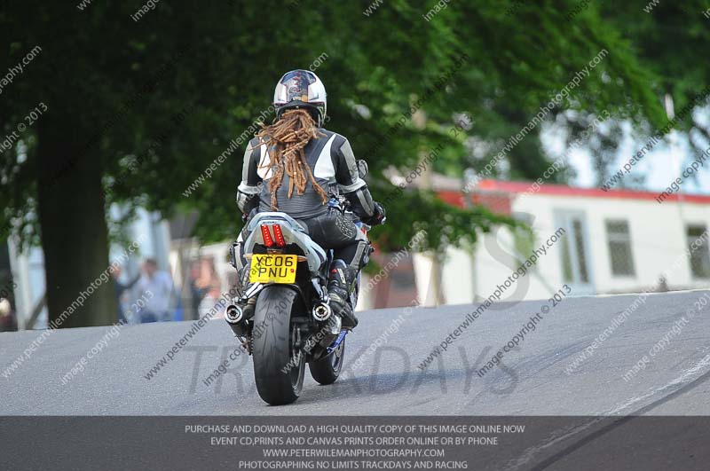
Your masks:
<svg viewBox="0 0 710 471"><path fill-rule="evenodd" d="M288 175L288 198L291 198L294 187L298 194L304 194L307 174L323 204L327 202L327 194L313 177L304 153L304 147L311 139L319 136L325 135L316 127L311 114L304 109L288 110L281 115L280 120L268 126L262 124L262 129L256 133L259 145L270 145L272 148L269 166L272 167L273 177L269 181L269 190L272 193L273 211L279 210L276 191L281 186L284 173Z"/></svg>

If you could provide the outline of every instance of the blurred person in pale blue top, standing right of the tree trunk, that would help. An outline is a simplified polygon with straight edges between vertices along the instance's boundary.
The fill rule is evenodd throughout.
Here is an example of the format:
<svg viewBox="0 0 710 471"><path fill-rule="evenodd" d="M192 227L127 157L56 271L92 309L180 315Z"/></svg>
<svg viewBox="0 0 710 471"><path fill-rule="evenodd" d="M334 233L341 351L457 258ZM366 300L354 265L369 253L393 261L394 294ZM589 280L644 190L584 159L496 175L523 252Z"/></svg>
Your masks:
<svg viewBox="0 0 710 471"><path fill-rule="evenodd" d="M140 310L140 322L157 322L170 320L170 300L172 297L172 278L167 271L158 270L154 258L146 258L143 263L143 275L138 279L137 298L151 293L146 301L146 307Z"/></svg>

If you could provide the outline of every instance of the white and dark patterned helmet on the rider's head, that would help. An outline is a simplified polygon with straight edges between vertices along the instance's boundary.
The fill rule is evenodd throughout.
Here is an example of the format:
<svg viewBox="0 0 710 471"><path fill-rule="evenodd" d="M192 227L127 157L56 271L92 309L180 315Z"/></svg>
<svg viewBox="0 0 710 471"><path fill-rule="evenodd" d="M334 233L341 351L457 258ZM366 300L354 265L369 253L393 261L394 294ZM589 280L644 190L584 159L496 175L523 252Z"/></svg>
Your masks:
<svg viewBox="0 0 710 471"><path fill-rule="evenodd" d="M312 111L319 126L323 125L327 109L326 87L318 75L308 70L292 70L284 74L273 90L276 117L288 109L305 108Z"/></svg>

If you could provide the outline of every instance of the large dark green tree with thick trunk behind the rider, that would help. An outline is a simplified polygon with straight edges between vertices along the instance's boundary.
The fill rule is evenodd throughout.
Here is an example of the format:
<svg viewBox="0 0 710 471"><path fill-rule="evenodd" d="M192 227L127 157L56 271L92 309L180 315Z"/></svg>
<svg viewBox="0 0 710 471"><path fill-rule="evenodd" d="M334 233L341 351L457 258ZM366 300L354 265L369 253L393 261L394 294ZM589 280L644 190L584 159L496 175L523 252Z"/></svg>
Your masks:
<svg viewBox="0 0 710 471"><path fill-rule="evenodd" d="M323 54L318 74L330 98L329 127L367 156L375 197L395 189L384 170L408 171L437 145L445 148L438 171L480 169L603 48L609 57L560 107L660 122L648 72L621 27L592 9L565 20L575 2L520 4L512 13L508 3L453 2L430 21L423 18L430 4L403 0L370 16L367 1L165 2L132 20L143 4L24 2L0 11L0 70L42 48L3 90L5 135L40 102L48 111L22 132L21 146L2 153L0 198L3 222L20 220L30 241L39 235L51 318L106 269L106 208L114 202L164 216L196 209L201 237L233 237L243 148L191 196L183 192L269 106L283 72L315 65ZM428 94L425 129L409 118L398 125ZM465 137L450 132L458 114L471 117ZM509 154L513 177L538 177L547 166L537 132ZM487 145L479 161L469 157L471 137ZM427 191L402 192L389 214L391 224L373 232L385 248L405 245L418 228L428 232L429 247L469 244L477 231L506 222ZM114 317L105 285L63 326Z"/></svg>

